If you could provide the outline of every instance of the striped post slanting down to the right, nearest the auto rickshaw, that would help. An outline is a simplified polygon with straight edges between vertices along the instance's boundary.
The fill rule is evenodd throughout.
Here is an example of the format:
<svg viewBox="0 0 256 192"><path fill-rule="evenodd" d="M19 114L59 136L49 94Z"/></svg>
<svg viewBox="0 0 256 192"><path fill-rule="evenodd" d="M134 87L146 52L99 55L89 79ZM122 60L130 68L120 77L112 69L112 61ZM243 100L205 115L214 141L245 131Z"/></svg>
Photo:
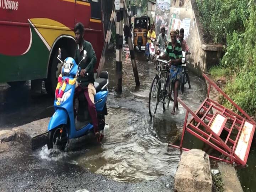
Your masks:
<svg viewBox="0 0 256 192"><path fill-rule="evenodd" d="M124 5L124 11L123 11L124 25L126 27L130 27L130 23L129 23L129 20L128 20L126 0L123 0L123 5ZM131 60L132 60L132 67L133 67L133 74L134 74L135 84L136 84L136 86L139 86L140 85L139 74L138 74L138 69L137 69L137 65L136 65L136 62L135 62L134 46L133 46L133 43L132 43L130 32L128 34L127 41L128 41L129 50L130 50L130 57L131 57Z"/></svg>

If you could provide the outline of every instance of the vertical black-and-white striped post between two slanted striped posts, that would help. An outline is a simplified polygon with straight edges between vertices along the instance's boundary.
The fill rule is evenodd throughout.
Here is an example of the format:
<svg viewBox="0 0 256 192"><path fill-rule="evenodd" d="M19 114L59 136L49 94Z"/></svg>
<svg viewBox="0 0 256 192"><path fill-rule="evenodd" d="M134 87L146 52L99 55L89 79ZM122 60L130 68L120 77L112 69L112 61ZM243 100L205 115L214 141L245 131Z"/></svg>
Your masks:
<svg viewBox="0 0 256 192"><path fill-rule="evenodd" d="M116 0L116 92L122 92L123 78L123 0ZM119 3L119 7L117 4Z"/></svg>

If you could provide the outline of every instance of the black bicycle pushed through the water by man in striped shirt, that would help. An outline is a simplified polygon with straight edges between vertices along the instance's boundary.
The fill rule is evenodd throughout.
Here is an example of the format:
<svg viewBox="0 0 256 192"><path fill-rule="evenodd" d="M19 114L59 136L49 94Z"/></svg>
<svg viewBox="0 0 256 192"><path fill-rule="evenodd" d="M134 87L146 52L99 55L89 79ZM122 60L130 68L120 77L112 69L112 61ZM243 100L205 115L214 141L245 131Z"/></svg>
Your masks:
<svg viewBox="0 0 256 192"><path fill-rule="evenodd" d="M169 61L158 59L156 64L156 70L158 70L158 74L156 74L151 83L150 91L149 91L149 115L152 118L157 110L159 101L163 104L163 111L165 111L165 99L167 99L167 107L169 107L171 98L171 84L169 83ZM161 85L161 79L165 75L164 86ZM163 87L163 89L162 89ZM155 104L155 105L154 105Z"/></svg>

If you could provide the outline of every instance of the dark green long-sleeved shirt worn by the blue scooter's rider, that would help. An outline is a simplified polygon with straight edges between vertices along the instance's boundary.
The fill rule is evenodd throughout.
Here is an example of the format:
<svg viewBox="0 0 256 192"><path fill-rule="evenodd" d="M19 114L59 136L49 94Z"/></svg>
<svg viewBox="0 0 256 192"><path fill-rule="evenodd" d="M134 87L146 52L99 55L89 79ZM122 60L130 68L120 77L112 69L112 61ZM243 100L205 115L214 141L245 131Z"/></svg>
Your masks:
<svg viewBox="0 0 256 192"><path fill-rule="evenodd" d="M79 76L78 77L78 82L81 81L81 86L82 87L87 87L89 83L93 84L94 81L95 81L94 80L94 67L97 63L97 59L96 59L94 49L92 48L92 44L90 42L84 40L83 48L82 48L81 52L80 52L80 49L79 49L79 45L76 47L75 57L74 57L74 60L75 60L76 64L79 64L79 62L81 61L82 53L83 53L84 50L86 50L87 56L85 58L85 61L83 61L80 64L80 67L81 67L81 69L85 69L86 73L88 73L89 75L84 76L84 77Z"/></svg>

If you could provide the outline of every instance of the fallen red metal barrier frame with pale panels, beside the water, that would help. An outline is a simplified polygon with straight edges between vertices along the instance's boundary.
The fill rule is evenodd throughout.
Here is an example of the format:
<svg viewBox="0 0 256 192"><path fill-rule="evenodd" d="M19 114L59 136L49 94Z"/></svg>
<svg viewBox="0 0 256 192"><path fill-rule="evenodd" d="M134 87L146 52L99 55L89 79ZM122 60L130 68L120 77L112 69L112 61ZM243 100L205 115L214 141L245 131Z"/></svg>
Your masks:
<svg viewBox="0 0 256 192"><path fill-rule="evenodd" d="M209 155L210 158L246 165L256 123L216 84L214 84L206 74L203 74L203 77L209 82L207 98L203 101L196 112L193 112L180 98L178 98L178 102L181 103L187 112L180 146L172 144L169 144L169 146L189 150L182 148L184 134L187 131L228 157L229 160ZM210 99L209 94L211 86L215 87L215 89L217 89L220 94L232 103L244 117ZM189 114L192 115L192 118L190 121L187 121ZM226 131L227 136L225 136L226 134L222 134L223 130ZM221 134L222 137L220 137Z"/></svg>

